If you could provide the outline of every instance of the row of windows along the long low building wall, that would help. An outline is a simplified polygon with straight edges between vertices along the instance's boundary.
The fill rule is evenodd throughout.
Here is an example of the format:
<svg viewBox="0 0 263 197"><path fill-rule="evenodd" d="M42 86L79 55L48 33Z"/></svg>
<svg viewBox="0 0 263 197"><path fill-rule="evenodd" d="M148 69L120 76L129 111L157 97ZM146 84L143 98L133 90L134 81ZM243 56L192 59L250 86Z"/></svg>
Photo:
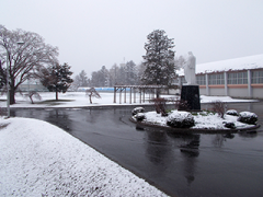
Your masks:
<svg viewBox="0 0 263 197"><path fill-rule="evenodd" d="M227 73L228 84L248 84L248 72ZM206 76L196 76L196 82L199 85L206 84ZM263 70L251 71L251 83L263 83ZM225 74L208 74L208 84L225 84Z"/></svg>

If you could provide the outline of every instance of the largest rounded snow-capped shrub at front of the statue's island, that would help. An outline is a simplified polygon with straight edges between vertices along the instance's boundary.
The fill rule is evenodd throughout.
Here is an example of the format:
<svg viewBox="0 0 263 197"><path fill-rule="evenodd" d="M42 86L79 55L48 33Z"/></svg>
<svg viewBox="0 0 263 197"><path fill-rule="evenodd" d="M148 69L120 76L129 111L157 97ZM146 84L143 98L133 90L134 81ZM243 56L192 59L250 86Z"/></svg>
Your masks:
<svg viewBox="0 0 263 197"><path fill-rule="evenodd" d="M195 125L194 116L187 112L174 111L168 116L167 125L176 128L190 128Z"/></svg>

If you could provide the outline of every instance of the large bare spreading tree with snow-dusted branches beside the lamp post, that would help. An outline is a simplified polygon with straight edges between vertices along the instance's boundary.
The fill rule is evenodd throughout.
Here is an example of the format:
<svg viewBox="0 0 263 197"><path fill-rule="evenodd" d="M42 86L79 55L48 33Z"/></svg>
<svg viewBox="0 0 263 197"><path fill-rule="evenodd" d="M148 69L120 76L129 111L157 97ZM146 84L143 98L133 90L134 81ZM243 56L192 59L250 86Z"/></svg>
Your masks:
<svg viewBox="0 0 263 197"><path fill-rule="evenodd" d="M0 74L1 79L5 79L7 72L9 74L10 104L14 104L14 93L23 82L35 78L39 67L57 62L58 48L45 44L44 38L36 33L23 30L9 31L2 25L0 26L2 27L0 33L0 45L2 46L0 47L0 58L2 59ZM23 45L18 45L18 43L23 43ZM8 59L8 63L5 59Z"/></svg>

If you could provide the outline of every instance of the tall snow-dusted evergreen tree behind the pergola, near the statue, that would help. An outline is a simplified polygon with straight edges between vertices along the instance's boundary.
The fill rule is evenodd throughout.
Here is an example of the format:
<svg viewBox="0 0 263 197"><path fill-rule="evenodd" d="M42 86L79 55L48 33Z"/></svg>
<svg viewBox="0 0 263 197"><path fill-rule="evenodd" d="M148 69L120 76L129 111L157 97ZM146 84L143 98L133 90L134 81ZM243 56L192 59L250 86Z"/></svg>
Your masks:
<svg viewBox="0 0 263 197"><path fill-rule="evenodd" d="M174 43L165 32L156 30L147 36L146 55L142 56L146 70L142 74L145 84L169 85L175 79Z"/></svg>

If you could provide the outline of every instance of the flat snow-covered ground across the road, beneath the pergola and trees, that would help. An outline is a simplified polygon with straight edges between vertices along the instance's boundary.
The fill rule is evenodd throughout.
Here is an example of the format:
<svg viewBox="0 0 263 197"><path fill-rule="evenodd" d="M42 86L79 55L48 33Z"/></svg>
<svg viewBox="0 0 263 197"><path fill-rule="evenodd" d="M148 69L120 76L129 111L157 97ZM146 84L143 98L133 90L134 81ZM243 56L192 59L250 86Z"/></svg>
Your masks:
<svg viewBox="0 0 263 197"><path fill-rule="evenodd" d="M113 93L100 93L101 99L92 97L92 104L90 104L89 97L85 96L84 92L67 92L65 94L59 93L59 102L54 102L55 93L44 92L41 93L42 100L38 101L34 99L35 104L31 104L30 99L23 97L20 94L15 96L16 104L11 105L11 107L82 107L82 106L104 106L104 105L119 105L119 94L116 95L116 103L113 103ZM133 95L134 96L134 95ZM171 95L163 95L163 97L171 97ZM0 96L0 100L5 100L7 96ZM136 103L129 104L129 93L126 95L126 103L124 103L124 93L122 95L122 105L140 105L139 94L136 96ZM146 100L148 95L146 95ZM210 103L215 101L221 102L254 102L255 100L236 100L229 96L201 96L201 103ZM144 104L149 104L148 102ZM7 102L0 102L0 107L5 107Z"/></svg>

